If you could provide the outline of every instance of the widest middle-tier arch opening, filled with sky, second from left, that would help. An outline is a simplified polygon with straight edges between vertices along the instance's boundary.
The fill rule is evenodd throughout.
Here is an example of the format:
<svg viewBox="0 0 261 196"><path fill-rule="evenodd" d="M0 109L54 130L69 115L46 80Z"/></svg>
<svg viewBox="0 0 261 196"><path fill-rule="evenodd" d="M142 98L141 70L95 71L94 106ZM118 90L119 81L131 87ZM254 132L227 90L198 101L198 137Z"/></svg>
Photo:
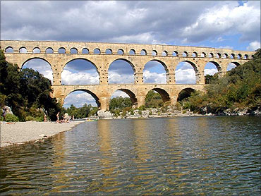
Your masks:
<svg viewBox="0 0 261 196"><path fill-rule="evenodd" d="M98 85L99 71L88 59L71 59L63 67L61 82L63 85Z"/></svg>

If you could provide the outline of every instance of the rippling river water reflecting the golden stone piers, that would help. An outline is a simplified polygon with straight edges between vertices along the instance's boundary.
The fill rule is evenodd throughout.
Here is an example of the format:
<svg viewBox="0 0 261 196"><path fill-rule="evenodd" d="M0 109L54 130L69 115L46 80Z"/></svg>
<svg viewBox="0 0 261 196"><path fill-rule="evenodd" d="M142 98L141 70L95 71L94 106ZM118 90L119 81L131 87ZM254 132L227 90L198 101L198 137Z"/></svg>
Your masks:
<svg viewBox="0 0 261 196"><path fill-rule="evenodd" d="M260 116L86 122L0 149L0 195L259 195Z"/></svg>

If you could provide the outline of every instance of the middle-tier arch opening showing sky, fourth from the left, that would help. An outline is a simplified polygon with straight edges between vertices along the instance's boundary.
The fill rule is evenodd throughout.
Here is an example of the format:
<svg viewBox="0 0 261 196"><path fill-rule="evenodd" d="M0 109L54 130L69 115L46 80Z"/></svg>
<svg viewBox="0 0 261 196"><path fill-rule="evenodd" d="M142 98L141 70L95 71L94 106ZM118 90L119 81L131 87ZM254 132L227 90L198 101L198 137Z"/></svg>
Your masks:
<svg viewBox="0 0 261 196"><path fill-rule="evenodd" d="M166 84L169 82L169 69L164 62L157 59L147 61L147 63L143 66L142 73L145 83Z"/></svg>

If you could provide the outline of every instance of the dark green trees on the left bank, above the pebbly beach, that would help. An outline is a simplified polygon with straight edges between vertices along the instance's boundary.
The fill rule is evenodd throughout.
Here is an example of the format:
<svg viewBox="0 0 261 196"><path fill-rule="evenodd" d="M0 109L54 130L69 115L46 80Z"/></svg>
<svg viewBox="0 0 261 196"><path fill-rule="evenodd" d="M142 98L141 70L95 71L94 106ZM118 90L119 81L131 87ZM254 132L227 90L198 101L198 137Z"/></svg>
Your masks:
<svg viewBox="0 0 261 196"><path fill-rule="evenodd" d="M32 113L32 108L42 109L52 121L56 120L56 114L61 110L55 98L51 98L51 81L44 78L38 71L25 68L19 71L17 65L6 62L2 50L0 50L0 105L10 106L13 114L20 121L25 121L27 116L40 120L43 112Z"/></svg>

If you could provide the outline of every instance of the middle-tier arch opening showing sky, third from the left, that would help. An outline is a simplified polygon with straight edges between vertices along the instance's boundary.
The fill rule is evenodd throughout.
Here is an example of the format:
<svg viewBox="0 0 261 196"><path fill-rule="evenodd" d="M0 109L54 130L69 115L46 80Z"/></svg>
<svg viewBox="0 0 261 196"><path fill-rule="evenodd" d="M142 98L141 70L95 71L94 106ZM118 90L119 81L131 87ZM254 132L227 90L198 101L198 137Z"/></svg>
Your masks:
<svg viewBox="0 0 261 196"><path fill-rule="evenodd" d="M109 84L134 83L135 73L133 63L123 58L115 59L108 67Z"/></svg>

